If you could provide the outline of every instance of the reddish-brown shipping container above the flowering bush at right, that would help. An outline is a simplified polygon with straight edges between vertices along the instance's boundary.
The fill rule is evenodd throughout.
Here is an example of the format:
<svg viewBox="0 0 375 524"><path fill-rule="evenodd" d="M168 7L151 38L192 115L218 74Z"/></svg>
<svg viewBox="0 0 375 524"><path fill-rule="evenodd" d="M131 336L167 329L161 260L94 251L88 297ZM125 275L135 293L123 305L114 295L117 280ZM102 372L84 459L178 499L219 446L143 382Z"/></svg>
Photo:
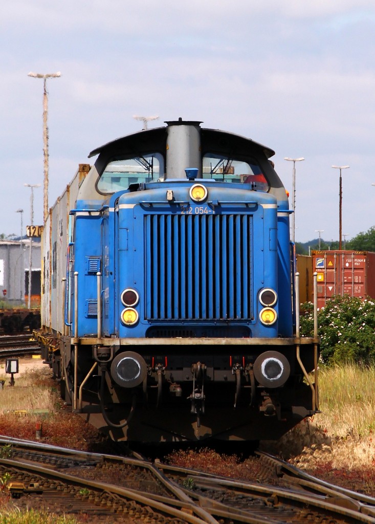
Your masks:
<svg viewBox="0 0 375 524"><path fill-rule="evenodd" d="M317 306L335 295L375 298L375 253L370 251L312 251L317 273Z"/></svg>

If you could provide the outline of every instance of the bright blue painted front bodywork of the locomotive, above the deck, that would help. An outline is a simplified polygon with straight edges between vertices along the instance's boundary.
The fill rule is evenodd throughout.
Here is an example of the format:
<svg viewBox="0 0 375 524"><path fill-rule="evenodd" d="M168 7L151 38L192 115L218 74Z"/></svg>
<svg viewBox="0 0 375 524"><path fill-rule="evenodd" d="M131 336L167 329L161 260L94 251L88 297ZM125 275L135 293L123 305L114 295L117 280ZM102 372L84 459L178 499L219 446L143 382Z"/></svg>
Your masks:
<svg viewBox="0 0 375 524"><path fill-rule="evenodd" d="M236 325L249 325L251 327L251 336L253 337L274 337L282 334L290 336L292 333L291 321L291 303L290 292L290 275L289 275L289 219L282 217L277 219L277 207L275 198L267 193L248 191L243 185L231 184L231 191L227 188L219 187L218 183L205 181L209 196L208 202L225 201L223 209L220 206L215 207L215 214L209 216L207 224L217 219L218 215L223 215L223 226L221 232L216 230L215 252L213 252L213 230L205 225L199 230L197 227L200 221L200 215L195 214L187 227L182 227L182 237L177 236L177 221L184 224L187 220L186 215L181 216L181 206L174 203L155 204L152 206L152 214L173 216L173 222L161 222L160 238L169 239L172 236L172 223L174 224L174 243L167 243L166 249L162 251L163 258L160 259L159 269L150 267L146 264L145 272L145 252L144 252L144 217L150 214L150 204L152 202L165 201L166 184L152 183L146 184L147 188L142 192L116 193L106 202L108 210L104 216L92 215L81 216L78 214L75 218L75 243L74 243L74 270L79 272L79 336L95 335L97 330L96 315L87 315L87 303L96 300L96 274L87 274L87 257L100 257L101 270L103 273L103 333L106 336L120 337L144 337L147 328L150 325L180 325L180 316L184 318L184 325L197 323L226 325L233 322ZM197 207L194 202L190 201L189 189L191 182L177 181L175 184L170 181L168 189L173 190L174 199L178 202L189 203L193 208ZM224 196L224 198L223 198ZM139 204L138 202L142 203ZM231 205L230 202L250 202L249 206ZM258 204L254 204L258 202ZM101 202L103 204L103 202ZM261 204L272 205L271 208L262 208ZM124 208L127 205L129 207ZM185 205L185 204L184 204ZM85 202L77 204L78 209L85 209ZM115 210L115 211L114 211ZM248 259L248 242L249 238L245 234L242 236L244 246L244 256L234 258L235 237L240 237L240 219L234 223L234 213L236 215L251 215L251 253L254 254L253 261ZM194 234L194 231L200 231L201 237ZM156 228L156 223L152 226ZM186 233L185 233L186 232ZM226 237L228 233L228 237ZM186 236L185 236L186 235ZM208 241L207 252L203 249L200 254L201 246L205 246ZM227 243L229 249L225 253L221 246ZM181 244L181 245L180 245ZM182 257L182 262L173 275L173 285L167 286L166 295L162 290L166 287L166 273L161 271L163 267L173 267L174 260L180 256L183 245L186 244L186 254ZM189 248L191 246L191 248ZM115 253L115 257L109 254ZM202 271L202 267L209 267L209 260L215 257L217 268L224 267L220 274L222 278L213 279L210 272ZM248 281L248 273L243 272L243 279L228 279L229 290L222 287L226 284L227 275L234 273L241 275L240 260L242 263L252 264L251 278ZM207 266L208 264L208 266ZM180 278L178 270L182 274L189 272L187 268L194 268L194 279L192 280L192 290L180 287ZM275 271L277 268L277 271ZM160 297L159 310L163 312L166 320L152 320L153 309L155 304L145 303L144 290L146 287L153 285L153 296ZM234 287L235 286L235 287ZM253 290L251 303L244 300L246 289L250 286ZM120 301L120 294L123 289L131 287L138 291L140 296L139 304L136 309L139 312L140 320L134 326L124 326L119 321L120 312L123 304ZM279 320L272 326L264 326L259 322L259 312L262 306L257 299L258 292L264 288L270 287L278 291L279 300L275 304L275 310L278 312ZM179 290L179 291L178 291ZM203 290L203 291L202 291ZM173 292L173 297L172 297ZM174 296L174 292L180 293ZM200 293L213 296L213 292L220 296L216 301L215 310L211 300L204 301L201 306L194 297L200 296ZM237 296L235 301L230 298ZM241 298L242 297L242 298ZM186 300L187 298L187 300ZM178 304L181 303L181 310ZM245 317L236 320L236 313L240 308L240 303L245 303ZM253 318L249 316L249 309L253 310ZM92 308L93 309L93 308ZM220 309L228 311L229 319L220 318ZM281 318L280 313L282 312ZM288 311L288 315L284 312ZM284 315L284 316L283 316ZM244 316L244 315L242 315ZM212 319L212 320L209 320ZM74 332L74 324L72 326Z"/></svg>

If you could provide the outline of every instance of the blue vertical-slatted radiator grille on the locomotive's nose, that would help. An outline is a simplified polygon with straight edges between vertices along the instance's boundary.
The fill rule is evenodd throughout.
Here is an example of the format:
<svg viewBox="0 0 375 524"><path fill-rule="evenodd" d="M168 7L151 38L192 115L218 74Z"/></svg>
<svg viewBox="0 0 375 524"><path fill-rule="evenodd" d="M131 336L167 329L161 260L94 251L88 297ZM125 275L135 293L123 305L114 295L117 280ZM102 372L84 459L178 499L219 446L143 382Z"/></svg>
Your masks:
<svg viewBox="0 0 375 524"><path fill-rule="evenodd" d="M250 319L249 215L145 215L146 311L152 320Z"/></svg>

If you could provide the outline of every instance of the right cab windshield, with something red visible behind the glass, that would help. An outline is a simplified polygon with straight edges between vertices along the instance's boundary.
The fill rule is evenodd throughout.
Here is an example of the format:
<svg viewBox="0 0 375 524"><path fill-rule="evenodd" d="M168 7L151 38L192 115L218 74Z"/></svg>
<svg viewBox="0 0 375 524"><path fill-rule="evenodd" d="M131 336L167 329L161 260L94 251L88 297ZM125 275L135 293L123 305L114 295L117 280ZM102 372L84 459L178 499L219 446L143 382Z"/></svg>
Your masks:
<svg viewBox="0 0 375 524"><path fill-rule="evenodd" d="M206 153L202 161L202 178L220 182L251 184L252 189L268 191L269 183L255 159L241 160L215 153Z"/></svg>

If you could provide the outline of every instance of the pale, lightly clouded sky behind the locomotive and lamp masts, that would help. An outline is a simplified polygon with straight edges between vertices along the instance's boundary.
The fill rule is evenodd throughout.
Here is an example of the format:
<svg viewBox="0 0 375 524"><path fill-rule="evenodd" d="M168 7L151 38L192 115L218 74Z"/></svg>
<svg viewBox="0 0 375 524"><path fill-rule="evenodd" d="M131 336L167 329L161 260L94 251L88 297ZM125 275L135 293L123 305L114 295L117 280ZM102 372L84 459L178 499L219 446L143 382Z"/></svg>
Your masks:
<svg viewBox="0 0 375 524"><path fill-rule="evenodd" d="M43 222L43 81L49 206L90 151L142 128L201 121L252 138L292 195L295 240L375 225L373 0L2 0L0 233ZM17 213L23 209L24 213Z"/></svg>

